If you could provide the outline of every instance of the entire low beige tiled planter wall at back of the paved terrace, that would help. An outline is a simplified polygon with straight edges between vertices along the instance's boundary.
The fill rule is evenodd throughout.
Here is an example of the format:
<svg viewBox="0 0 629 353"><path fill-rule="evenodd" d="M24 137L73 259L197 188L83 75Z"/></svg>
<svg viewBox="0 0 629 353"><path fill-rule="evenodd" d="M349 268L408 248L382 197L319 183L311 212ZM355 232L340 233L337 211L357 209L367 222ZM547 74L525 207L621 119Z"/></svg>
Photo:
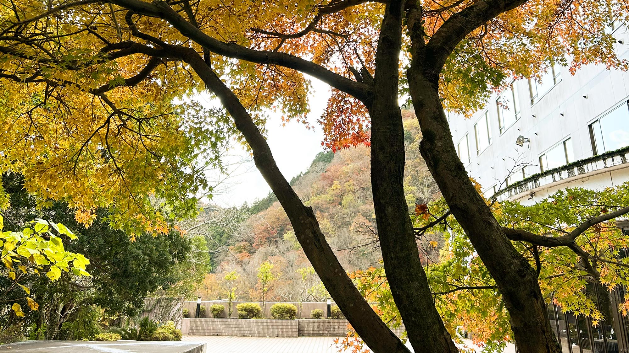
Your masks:
<svg viewBox="0 0 629 353"><path fill-rule="evenodd" d="M298 337L345 336L347 320L270 320L238 318L184 318L184 335L243 336L243 337ZM393 330L401 336L404 326Z"/></svg>

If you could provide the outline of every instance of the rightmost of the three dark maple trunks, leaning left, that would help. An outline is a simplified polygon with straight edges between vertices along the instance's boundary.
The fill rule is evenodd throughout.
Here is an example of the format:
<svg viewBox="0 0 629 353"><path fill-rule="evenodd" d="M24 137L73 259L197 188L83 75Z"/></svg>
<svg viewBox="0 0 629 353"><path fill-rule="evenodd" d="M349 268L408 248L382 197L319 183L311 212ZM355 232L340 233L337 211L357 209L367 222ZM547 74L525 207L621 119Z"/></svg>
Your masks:
<svg viewBox="0 0 629 353"><path fill-rule="evenodd" d="M501 225L469 180L452 142L438 95L438 73L427 72L418 55L407 73L423 139L420 151L452 214L493 276L521 352L559 353L537 273L507 239Z"/></svg>

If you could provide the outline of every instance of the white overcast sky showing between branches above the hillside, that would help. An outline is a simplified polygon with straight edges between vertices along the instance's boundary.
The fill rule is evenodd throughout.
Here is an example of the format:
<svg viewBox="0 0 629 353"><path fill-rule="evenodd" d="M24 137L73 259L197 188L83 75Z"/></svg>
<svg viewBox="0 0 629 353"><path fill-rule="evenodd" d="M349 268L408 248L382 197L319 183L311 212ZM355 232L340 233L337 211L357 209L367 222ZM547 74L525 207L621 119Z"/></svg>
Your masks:
<svg viewBox="0 0 629 353"><path fill-rule="evenodd" d="M308 97L310 113L308 122L315 129L306 129L300 122L288 122L282 126L280 114L270 114L267 121L267 143L273 156L287 180L305 171L316 154L323 151L321 141L323 131L316 122L325 109L330 87L316 79L311 79L313 90ZM203 101L203 100L202 100ZM260 172L255 168L250 154L241 146L233 146L225 158L229 177L214 190L212 203L223 206L240 206L243 202L251 204L255 198L264 198L270 188ZM209 173L212 183L217 176Z"/></svg>

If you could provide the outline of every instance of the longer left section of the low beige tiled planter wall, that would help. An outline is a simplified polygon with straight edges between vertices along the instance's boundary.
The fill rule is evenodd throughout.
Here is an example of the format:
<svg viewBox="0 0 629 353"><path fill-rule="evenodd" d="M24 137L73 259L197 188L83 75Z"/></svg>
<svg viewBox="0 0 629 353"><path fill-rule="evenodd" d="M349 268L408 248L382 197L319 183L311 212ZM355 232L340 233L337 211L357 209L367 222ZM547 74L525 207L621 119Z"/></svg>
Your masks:
<svg viewBox="0 0 629 353"><path fill-rule="evenodd" d="M188 335L241 337L297 337L298 320L239 320L189 318ZM183 328L184 325L182 325Z"/></svg>

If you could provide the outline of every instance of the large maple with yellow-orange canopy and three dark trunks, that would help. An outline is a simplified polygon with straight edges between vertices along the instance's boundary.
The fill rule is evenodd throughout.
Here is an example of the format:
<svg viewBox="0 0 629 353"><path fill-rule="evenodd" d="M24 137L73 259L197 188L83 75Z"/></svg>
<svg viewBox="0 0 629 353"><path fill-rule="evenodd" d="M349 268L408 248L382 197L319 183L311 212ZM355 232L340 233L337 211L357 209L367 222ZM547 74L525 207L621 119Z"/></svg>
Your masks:
<svg viewBox="0 0 629 353"><path fill-rule="evenodd" d="M269 109L308 124L307 73L336 89L321 118L324 142L333 149L372 147L383 265L411 344L416 352L455 352L431 299L404 195L398 95L408 92L423 134L422 156L496 281L520 349L559 351L537 273L509 239L541 236L494 217L457 157L444 106L470 112L491 87L508 77L535 77L548 61L572 70L589 62L626 68L604 31L610 14L626 18L622 1L1 4L0 171L23 173L42 207L64 199L77 220L90 224L94 209L108 206L114 227L165 233L169 218L194 213L189 195L206 188L204 165L196 163L200 151L220 166L226 138L239 131L304 253L360 337L377 352L408 351L362 300L264 139ZM189 99L206 88L229 117Z"/></svg>

